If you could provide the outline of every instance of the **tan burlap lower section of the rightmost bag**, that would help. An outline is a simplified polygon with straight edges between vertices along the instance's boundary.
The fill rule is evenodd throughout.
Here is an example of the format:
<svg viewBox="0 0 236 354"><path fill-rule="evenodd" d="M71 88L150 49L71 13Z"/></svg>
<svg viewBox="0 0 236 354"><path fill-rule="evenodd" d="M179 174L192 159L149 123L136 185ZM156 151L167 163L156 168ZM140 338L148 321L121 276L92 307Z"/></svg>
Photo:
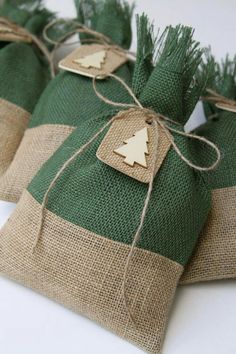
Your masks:
<svg viewBox="0 0 236 354"><path fill-rule="evenodd" d="M236 277L236 187L212 194L210 216L181 284Z"/></svg>

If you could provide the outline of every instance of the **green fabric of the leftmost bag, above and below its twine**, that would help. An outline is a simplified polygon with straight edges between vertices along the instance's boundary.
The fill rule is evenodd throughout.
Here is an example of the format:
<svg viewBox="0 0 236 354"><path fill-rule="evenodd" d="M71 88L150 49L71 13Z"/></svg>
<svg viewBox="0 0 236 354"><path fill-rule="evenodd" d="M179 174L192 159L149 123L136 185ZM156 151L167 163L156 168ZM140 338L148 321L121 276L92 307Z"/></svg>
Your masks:
<svg viewBox="0 0 236 354"><path fill-rule="evenodd" d="M40 37L52 14L41 1L5 0L0 17L5 17ZM0 98L32 113L49 78L47 64L34 45L3 43L0 50Z"/></svg>

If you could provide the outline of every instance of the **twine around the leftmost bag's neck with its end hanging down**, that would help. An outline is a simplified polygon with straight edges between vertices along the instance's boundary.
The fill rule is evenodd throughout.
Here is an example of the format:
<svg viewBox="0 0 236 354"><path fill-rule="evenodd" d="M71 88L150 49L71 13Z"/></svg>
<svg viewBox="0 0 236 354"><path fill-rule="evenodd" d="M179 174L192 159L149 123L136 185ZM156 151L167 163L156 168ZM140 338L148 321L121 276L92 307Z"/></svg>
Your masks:
<svg viewBox="0 0 236 354"><path fill-rule="evenodd" d="M1 26L2 25L2 26ZM51 55L47 49L47 47L43 44L43 42L37 38L34 34L27 31L25 28L22 28L15 24L12 21L9 21L5 17L0 17L0 33L14 34L16 36L23 35L28 38L32 43L34 43L37 48L43 53L45 58L47 59L50 67L51 77L55 77L55 68L54 63L51 58Z"/></svg>

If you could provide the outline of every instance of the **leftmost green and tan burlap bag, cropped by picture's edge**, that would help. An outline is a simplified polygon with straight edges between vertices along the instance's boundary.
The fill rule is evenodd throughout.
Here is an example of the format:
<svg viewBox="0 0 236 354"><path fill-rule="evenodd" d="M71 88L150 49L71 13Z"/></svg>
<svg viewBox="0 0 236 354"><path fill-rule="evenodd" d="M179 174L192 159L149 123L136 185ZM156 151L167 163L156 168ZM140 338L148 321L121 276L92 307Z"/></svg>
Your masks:
<svg viewBox="0 0 236 354"><path fill-rule="evenodd" d="M13 160L33 109L50 79L48 63L31 36L40 38L52 17L41 1L5 0L0 6L1 177ZM1 198L8 200L4 186Z"/></svg>

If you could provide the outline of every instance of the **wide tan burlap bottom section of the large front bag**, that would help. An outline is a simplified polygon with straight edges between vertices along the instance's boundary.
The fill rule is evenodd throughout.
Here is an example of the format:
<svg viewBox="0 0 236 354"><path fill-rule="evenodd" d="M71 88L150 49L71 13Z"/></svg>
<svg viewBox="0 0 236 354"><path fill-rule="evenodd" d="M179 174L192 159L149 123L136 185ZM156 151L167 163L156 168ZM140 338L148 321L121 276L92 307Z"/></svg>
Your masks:
<svg viewBox="0 0 236 354"><path fill-rule="evenodd" d="M25 191L0 233L1 274L95 320L148 353L159 353L183 267L150 251L135 250L127 278L134 324L121 291L130 246L47 211L32 255L39 216L40 205Z"/></svg>

